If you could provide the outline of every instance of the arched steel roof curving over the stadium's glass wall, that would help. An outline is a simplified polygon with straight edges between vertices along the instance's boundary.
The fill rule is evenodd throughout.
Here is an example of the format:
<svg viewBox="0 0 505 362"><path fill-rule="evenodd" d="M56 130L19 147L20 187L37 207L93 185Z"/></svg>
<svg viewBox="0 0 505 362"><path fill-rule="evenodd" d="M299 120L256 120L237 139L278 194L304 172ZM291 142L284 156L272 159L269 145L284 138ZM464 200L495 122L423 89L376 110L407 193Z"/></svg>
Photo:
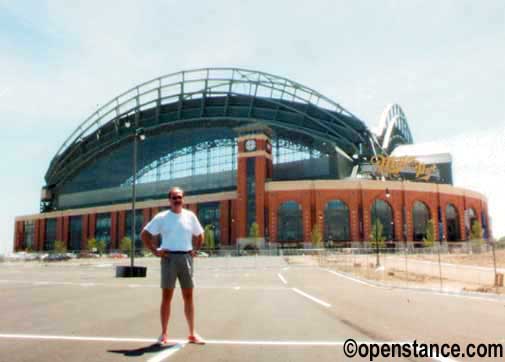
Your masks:
<svg viewBox="0 0 505 362"><path fill-rule="evenodd" d="M127 122L148 134L173 127L262 123L327 142L349 159L360 148L380 148L363 121L309 87L254 70L203 68L139 84L97 109L53 157L47 185L61 184L100 154L131 142L133 132L124 127Z"/></svg>

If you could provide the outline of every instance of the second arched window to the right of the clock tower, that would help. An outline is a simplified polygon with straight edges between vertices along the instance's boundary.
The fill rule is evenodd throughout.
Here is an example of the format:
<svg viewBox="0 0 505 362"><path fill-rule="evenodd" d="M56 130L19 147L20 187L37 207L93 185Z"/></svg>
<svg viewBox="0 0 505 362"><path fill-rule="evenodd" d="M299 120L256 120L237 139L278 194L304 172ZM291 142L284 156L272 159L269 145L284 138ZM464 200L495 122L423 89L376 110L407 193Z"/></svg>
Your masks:
<svg viewBox="0 0 505 362"><path fill-rule="evenodd" d="M324 208L324 239L347 241L349 236L349 208L341 200L331 200Z"/></svg>

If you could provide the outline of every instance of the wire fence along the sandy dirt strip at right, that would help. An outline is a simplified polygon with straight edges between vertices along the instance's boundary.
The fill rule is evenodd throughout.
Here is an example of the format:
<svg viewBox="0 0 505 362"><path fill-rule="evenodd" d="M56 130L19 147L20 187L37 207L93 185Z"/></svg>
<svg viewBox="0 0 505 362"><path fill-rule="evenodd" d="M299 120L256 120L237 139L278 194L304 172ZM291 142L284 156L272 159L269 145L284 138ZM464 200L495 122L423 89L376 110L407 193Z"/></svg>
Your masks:
<svg viewBox="0 0 505 362"><path fill-rule="evenodd" d="M452 291L503 293L505 250L492 246L463 248L458 253L447 247L348 248L321 252L323 268L349 273L383 285Z"/></svg>

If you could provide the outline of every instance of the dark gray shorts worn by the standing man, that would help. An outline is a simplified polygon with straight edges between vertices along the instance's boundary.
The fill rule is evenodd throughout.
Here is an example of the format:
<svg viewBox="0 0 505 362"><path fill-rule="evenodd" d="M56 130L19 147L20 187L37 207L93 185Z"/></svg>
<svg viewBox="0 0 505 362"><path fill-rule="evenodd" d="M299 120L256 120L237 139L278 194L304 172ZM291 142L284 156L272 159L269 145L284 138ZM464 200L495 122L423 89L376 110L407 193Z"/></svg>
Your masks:
<svg viewBox="0 0 505 362"><path fill-rule="evenodd" d="M161 287L175 288L179 279L181 288L193 288L193 257L191 254L170 254L161 258Z"/></svg>

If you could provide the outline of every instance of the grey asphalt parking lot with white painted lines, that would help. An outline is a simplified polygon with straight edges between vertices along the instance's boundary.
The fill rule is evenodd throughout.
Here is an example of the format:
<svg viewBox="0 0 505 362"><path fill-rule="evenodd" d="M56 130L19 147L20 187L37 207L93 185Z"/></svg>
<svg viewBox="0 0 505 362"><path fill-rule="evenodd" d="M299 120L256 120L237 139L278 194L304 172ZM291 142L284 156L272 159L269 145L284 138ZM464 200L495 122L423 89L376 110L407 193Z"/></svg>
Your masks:
<svg viewBox="0 0 505 362"><path fill-rule="evenodd" d="M195 261L196 329L207 344L186 344L178 290L174 346L161 348L159 260L137 261L148 267L145 279L115 278L115 265L125 263L1 263L0 361L323 362L346 360L348 338L505 343L505 300L379 288L252 256Z"/></svg>

